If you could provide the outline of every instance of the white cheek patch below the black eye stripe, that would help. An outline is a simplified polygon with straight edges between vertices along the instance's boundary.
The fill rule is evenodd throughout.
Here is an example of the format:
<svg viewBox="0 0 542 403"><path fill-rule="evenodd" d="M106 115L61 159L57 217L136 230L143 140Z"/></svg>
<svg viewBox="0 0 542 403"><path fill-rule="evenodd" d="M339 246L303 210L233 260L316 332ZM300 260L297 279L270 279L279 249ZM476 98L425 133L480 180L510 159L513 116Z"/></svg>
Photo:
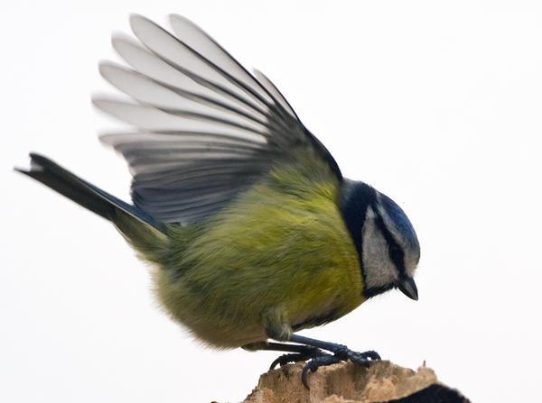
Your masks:
<svg viewBox="0 0 542 403"><path fill-rule="evenodd" d="M375 224L375 214L369 207L363 225L363 271L367 288L384 287L397 280L397 270L389 260L388 243Z"/></svg>

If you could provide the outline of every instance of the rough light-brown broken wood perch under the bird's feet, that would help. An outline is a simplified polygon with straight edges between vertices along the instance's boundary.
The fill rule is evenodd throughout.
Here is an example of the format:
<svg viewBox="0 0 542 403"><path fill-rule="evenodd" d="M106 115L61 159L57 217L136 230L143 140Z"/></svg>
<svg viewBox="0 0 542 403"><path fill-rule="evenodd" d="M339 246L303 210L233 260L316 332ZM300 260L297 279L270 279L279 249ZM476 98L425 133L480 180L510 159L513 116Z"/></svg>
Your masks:
<svg viewBox="0 0 542 403"><path fill-rule="evenodd" d="M435 372L421 366L417 371L388 361L369 368L352 362L322 367L309 374L309 390L301 382L304 363L268 371L243 403L373 403L431 402L466 403L469 400L437 380Z"/></svg>

